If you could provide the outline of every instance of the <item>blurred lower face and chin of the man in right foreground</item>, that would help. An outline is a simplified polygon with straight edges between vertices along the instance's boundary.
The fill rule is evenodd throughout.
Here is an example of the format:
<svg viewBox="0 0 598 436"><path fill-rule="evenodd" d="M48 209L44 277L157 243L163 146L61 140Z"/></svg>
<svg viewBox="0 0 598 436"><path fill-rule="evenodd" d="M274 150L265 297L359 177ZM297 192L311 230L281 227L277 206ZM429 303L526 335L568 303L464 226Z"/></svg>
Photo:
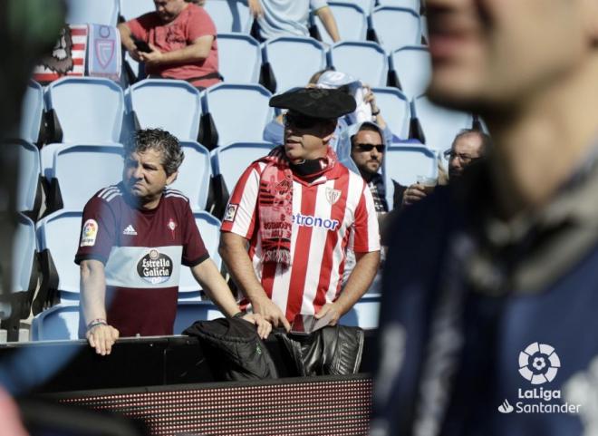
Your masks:
<svg viewBox="0 0 598 436"><path fill-rule="evenodd" d="M513 108L593 54L588 0L429 0L429 97L458 109Z"/></svg>

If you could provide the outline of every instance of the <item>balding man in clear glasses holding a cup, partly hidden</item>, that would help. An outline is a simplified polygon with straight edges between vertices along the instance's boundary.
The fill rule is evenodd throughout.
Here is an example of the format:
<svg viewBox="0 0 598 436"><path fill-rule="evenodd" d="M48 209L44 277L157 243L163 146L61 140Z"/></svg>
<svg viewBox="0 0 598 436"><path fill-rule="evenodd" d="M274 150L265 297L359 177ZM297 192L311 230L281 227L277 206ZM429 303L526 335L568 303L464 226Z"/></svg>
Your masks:
<svg viewBox="0 0 598 436"><path fill-rule="evenodd" d="M475 160L483 157L489 145L491 143L490 137L483 131L474 131L471 129L465 129L460 131L453 140L450 150L444 152L445 158L449 160L449 179L443 178L441 171L439 175L439 185L447 184L450 179L457 179L463 174L468 165ZM439 168L440 170L440 168ZM425 189L421 183L414 183L406 189L399 189L395 186L395 204L400 204L402 207L410 206L411 204L425 199L429 193L429 189ZM400 193L402 192L402 199L400 199Z"/></svg>

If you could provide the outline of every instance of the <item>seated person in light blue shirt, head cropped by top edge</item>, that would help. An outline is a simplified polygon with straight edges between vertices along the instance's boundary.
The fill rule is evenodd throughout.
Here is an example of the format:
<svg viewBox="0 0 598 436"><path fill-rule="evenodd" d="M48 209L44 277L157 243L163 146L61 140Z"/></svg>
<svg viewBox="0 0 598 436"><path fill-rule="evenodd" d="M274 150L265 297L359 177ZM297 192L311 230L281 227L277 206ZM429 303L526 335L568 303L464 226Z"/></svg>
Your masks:
<svg viewBox="0 0 598 436"><path fill-rule="evenodd" d="M336 43L339 30L333 11L326 0L248 0L251 14L256 18L257 36L261 40L276 36L309 36L310 7L322 21L326 32Z"/></svg>

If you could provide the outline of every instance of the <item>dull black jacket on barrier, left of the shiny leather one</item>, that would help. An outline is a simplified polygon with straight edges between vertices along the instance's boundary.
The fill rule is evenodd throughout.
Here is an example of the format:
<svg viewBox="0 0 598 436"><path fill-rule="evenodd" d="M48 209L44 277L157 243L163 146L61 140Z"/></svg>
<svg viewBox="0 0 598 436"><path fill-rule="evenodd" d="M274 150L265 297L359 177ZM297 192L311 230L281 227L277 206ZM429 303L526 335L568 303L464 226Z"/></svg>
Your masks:
<svg viewBox="0 0 598 436"><path fill-rule="evenodd" d="M217 380L278 378L275 363L256 332L242 318L196 321L183 334L196 336Z"/></svg>

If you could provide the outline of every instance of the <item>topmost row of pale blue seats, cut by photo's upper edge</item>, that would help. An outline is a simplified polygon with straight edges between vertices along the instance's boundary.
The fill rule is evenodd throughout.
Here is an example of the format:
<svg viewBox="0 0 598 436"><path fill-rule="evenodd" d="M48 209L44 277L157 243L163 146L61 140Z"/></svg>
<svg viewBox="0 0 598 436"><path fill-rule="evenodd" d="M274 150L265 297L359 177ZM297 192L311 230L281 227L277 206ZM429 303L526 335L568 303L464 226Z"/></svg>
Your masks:
<svg viewBox="0 0 598 436"><path fill-rule="evenodd" d="M116 25L119 19L130 20L154 10L151 0L69 0L66 22L71 24ZM329 6L341 39L365 41L370 32L387 50L402 45L420 44L425 22L420 16L420 0L381 0L374 7L371 0L330 1ZM253 17L245 1L207 0L204 8L216 24L218 33L249 34ZM331 44L320 20L313 19L322 41Z"/></svg>

